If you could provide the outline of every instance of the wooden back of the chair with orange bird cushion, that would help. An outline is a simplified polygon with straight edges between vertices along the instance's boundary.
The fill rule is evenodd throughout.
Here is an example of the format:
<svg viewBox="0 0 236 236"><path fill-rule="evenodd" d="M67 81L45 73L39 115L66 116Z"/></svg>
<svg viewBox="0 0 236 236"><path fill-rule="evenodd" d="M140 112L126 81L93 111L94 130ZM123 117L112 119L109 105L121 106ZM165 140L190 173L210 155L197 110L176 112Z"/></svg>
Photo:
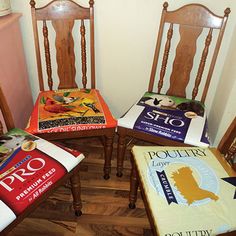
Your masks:
<svg viewBox="0 0 236 236"><path fill-rule="evenodd" d="M48 25L51 22L52 30L55 31L55 51L57 74L59 78L59 89L77 88L76 83L76 57L74 46L75 43L81 44L81 70L82 70L82 85L83 88L87 86L87 50L86 50L86 26L89 30L89 44L90 44L90 67L91 67L91 88L95 88L95 62L94 62L94 1L89 0L89 7L83 7L71 0L53 0L44 7L36 8L35 1L30 1L33 31L35 39L35 49L37 57L38 78L40 90L44 91L44 79L42 70L41 47L44 45L44 55L47 74L48 88L53 89L55 79L52 71L52 53L50 41L50 32ZM73 39L73 27L75 23L80 21L80 37L75 36ZM40 25L41 22L41 25ZM39 27L42 27L42 41L40 44ZM55 76L56 77L56 76Z"/></svg>

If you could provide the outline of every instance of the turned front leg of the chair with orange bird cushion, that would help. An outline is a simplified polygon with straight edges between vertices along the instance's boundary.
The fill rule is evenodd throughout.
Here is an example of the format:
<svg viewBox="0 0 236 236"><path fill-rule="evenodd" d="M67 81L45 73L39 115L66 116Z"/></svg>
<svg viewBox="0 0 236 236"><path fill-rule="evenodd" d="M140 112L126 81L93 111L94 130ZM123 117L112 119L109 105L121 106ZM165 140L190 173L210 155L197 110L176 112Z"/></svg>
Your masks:
<svg viewBox="0 0 236 236"><path fill-rule="evenodd" d="M110 178L111 173L111 156L113 150L113 136L105 137L105 145L104 145L104 155L105 155L105 163L104 163L104 179Z"/></svg>

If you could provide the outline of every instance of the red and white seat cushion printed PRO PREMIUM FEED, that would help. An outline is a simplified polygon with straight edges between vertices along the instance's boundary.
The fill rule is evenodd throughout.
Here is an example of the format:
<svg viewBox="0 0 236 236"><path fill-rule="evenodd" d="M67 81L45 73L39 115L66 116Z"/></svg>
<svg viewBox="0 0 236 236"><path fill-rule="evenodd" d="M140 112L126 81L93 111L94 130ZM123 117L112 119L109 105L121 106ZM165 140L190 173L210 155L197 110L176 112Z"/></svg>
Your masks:
<svg viewBox="0 0 236 236"><path fill-rule="evenodd" d="M1 136L0 231L83 158L20 129Z"/></svg>

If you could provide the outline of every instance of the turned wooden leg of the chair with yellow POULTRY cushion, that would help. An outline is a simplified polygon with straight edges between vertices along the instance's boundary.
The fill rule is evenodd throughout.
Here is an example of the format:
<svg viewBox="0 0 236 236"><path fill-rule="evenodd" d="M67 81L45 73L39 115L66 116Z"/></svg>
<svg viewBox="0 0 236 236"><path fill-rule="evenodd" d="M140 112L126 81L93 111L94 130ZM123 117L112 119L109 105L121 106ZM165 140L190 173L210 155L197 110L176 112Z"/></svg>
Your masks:
<svg viewBox="0 0 236 236"><path fill-rule="evenodd" d="M138 193L138 173L137 168L135 166L133 158L131 158L131 175L130 175L130 192L129 192L129 208L134 209L135 203L137 201L137 193Z"/></svg>

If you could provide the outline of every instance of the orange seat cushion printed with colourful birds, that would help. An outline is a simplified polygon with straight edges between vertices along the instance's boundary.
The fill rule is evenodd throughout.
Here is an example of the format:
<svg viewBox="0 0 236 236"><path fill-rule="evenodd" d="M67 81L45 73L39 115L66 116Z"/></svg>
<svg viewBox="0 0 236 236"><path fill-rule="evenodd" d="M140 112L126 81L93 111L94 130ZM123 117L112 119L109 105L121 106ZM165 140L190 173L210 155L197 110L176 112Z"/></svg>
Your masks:
<svg viewBox="0 0 236 236"><path fill-rule="evenodd" d="M26 131L37 134L116 127L108 106L95 89L40 92Z"/></svg>

